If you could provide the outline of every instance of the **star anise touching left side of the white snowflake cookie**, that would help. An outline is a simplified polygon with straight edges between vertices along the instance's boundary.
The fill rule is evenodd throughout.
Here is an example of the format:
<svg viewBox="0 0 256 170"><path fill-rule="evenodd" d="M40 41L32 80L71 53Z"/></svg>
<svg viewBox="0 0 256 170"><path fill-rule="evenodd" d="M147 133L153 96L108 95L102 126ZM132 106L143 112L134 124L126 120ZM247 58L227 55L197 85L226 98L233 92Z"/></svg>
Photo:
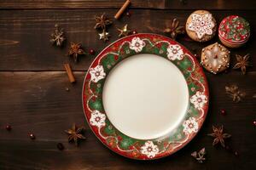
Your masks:
<svg viewBox="0 0 256 170"><path fill-rule="evenodd" d="M177 19L172 20L172 26L164 30L166 33L170 33L172 39L176 39L178 34L184 34L184 26L179 26L179 21Z"/></svg>

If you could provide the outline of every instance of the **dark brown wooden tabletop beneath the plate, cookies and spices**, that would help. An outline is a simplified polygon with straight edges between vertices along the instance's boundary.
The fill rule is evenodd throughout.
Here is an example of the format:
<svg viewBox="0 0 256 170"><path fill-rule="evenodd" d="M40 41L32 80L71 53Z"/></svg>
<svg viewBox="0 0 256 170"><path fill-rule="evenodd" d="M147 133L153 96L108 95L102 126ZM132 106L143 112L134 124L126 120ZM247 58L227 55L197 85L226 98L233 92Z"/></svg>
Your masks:
<svg viewBox="0 0 256 170"><path fill-rule="evenodd" d="M113 20L109 32L110 42L118 38L116 26L127 23L138 32L164 34L163 29L173 18L181 24L195 9L209 9L218 23L229 14L246 18L252 28L252 37L242 48L232 49L231 65L235 54L251 54L253 67L247 75L240 71L212 75L206 72L210 88L210 110L200 133L182 150L156 161L134 161L119 156L101 144L85 122L81 104L84 74L95 56L87 55L78 64L70 60L77 83L68 82L63 63L69 42L82 42L84 49L96 49L99 53L110 42L99 40L95 15L106 13L109 17L117 12L123 0L2 0L0 3L0 169L255 169L256 136L253 120L256 119L256 1L216 0L202 3L188 0L137 0L132 1L131 17ZM67 43L55 48L49 35L58 23L66 31ZM177 39L194 54L201 48L218 41L198 43ZM247 95L241 103L233 103L225 94L224 87L237 84ZM65 88L69 88L67 92ZM227 112L226 116L220 110ZM64 130L73 122L86 127L86 141L79 147L67 142ZM13 129L8 132L6 124ZM232 134L230 146L239 156L220 147L212 147L212 124L224 125ZM31 140L29 133L37 137ZM58 150L61 142L65 150ZM207 161L197 163L190 153L202 147L207 149ZM254 168L253 168L254 167Z"/></svg>

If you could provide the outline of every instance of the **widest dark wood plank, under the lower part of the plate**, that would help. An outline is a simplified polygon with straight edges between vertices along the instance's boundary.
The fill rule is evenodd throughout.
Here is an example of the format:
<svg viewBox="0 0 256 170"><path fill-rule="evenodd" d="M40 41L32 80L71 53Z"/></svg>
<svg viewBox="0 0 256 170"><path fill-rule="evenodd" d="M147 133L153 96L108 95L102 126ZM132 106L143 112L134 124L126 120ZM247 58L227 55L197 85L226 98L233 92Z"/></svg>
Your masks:
<svg viewBox="0 0 256 170"><path fill-rule="evenodd" d="M105 148L84 120L81 88L84 71L76 71L78 82L71 85L64 71L0 72L0 126L13 126L11 132L0 129L0 169L255 169L256 73L241 76L237 72L212 75L207 73L211 92L210 109L201 132L183 150L156 161L132 161ZM224 94L226 84L236 83L247 96L235 104ZM65 88L70 91L66 92ZM220 109L227 111L221 116ZM67 143L63 130L73 122L86 127L86 141L79 148ZM230 145L239 151L236 157L221 148L212 147L207 137L212 124L224 124L232 134ZM35 133L32 141L28 133ZM56 149L56 143L66 150ZM207 149L207 161L201 165L190 153Z"/></svg>

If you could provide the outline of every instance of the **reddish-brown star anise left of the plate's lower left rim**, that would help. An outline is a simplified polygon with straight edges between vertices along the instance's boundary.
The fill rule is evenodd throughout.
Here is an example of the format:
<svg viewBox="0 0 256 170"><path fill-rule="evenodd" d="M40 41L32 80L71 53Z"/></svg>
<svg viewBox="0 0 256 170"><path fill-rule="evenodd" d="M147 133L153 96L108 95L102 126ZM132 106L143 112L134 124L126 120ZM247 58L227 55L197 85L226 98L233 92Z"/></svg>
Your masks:
<svg viewBox="0 0 256 170"><path fill-rule="evenodd" d="M71 129L65 130L68 134L68 142L74 142L77 146L79 145L79 139L85 139L84 127L77 127L75 124L71 127Z"/></svg>

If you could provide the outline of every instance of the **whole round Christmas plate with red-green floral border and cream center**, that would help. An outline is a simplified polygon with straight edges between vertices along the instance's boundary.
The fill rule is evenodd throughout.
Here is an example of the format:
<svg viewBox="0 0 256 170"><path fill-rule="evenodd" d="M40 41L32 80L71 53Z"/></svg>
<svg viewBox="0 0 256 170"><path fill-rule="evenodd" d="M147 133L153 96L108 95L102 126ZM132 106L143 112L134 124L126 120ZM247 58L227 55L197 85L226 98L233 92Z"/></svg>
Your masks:
<svg viewBox="0 0 256 170"><path fill-rule="evenodd" d="M84 78L84 114L110 150L133 159L169 156L202 126L207 79L188 49L137 34L110 44Z"/></svg>

